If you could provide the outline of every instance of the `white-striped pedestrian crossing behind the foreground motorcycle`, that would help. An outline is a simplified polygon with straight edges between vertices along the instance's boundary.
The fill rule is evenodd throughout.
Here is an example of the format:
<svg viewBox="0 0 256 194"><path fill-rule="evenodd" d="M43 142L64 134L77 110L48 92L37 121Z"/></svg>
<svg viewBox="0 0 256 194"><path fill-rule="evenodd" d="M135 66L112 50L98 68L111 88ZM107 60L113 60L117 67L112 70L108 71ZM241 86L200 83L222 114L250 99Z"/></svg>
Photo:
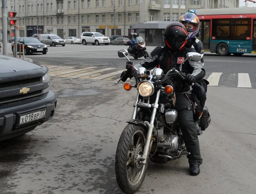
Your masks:
<svg viewBox="0 0 256 194"><path fill-rule="evenodd" d="M119 80L120 74L125 70L116 67L76 67L47 64L41 66L48 67L49 75L54 77L108 80L114 82ZM252 75L253 80L256 80L256 75ZM209 86L256 88L256 81L251 82L249 73L207 72L204 79L209 81ZM127 81L134 82L134 78L128 78Z"/></svg>

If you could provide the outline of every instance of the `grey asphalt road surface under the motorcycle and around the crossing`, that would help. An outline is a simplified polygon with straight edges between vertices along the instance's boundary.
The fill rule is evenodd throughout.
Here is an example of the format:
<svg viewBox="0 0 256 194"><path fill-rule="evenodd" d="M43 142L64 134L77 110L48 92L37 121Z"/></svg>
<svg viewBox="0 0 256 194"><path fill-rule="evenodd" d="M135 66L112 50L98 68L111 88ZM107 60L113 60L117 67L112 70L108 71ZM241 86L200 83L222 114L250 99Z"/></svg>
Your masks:
<svg viewBox="0 0 256 194"><path fill-rule="evenodd" d="M71 46L84 50L74 51L76 47L72 50ZM91 51L94 48L103 50ZM94 69L123 69L125 60L116 54L119 48L123 47L67 45L50 47L47 55L29 56L35 63L49 66L57 110L52 120L32 132L0 142L1 194L122 193L115 179L114 159L125 121L131 118L136 90L127 92L122 83L115 85L116 77L70 78L79 75L75 70L81 73L80 68L93 67L82 70L84 74ZM210 74L248 73L253 86L254 59L206 55L205 66ZM69 68L73 72L60 77L70 66L75 70ZM63 77L70 73L74 75ZM99 73L96 77L106 75ZM237 81L228 80L231 87L208 87L206 105L212 121L199 136L201 174L189 175L186 156L166 164L150 162L138 194L256 194L256 90L237 88ZM221 83L220 77L218 86Z"/></svg>

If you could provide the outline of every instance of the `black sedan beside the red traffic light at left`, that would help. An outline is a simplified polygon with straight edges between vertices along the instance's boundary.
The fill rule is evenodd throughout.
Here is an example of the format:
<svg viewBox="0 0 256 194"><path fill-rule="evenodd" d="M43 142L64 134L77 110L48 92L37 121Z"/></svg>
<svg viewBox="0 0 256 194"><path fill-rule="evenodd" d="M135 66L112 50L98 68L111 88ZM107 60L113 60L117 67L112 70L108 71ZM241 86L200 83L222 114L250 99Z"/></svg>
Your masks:
<svg viewBox="0 0 256 194"><path fill-rule="evenodd" d="M19 41L17 40L17 52L19 52L19 45L22 46L22 44L24 44L25 55L28 55L31 53L38 53L38 52L42 52L45 55L48 52L47 45L44 43L41 43L41 41L39 41L37 38L25 37L25 38L20 38ZM12 52L13 52L14 42L12 43L11 46L12 46Z"/></svg>

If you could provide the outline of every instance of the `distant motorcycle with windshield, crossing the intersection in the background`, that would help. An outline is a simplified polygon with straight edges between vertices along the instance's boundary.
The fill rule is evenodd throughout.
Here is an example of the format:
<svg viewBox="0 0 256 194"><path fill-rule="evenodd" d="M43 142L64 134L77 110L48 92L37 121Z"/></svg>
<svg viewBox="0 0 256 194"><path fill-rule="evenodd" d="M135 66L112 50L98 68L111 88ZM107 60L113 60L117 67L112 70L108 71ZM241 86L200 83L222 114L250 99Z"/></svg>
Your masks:
<svg viewBox="0 0 256 194"><path fill-rule="evenodd" d="M149 57L148 52L146 51L147 47L145 45L145 41L143 40L143 38L139 36L136 38L136 41L137 44L134 46L134 49L131 48L131 41L127 42L127 44L130 45L129 48L127 49L129 55L133 56L134 59L138 59L141 57Z"/></svg>

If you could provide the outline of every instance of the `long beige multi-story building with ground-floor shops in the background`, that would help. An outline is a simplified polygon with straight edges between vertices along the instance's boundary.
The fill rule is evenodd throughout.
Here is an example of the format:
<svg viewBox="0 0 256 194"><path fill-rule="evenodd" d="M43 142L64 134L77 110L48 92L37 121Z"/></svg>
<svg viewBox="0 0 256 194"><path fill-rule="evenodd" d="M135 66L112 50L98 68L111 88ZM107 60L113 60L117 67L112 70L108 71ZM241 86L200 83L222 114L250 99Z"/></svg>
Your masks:
<svg viewBox="0 0 256 194"><path fill-rule="evenodd" d="M189 9L231 8L238 4L239 0L8 0L7 9L17 11L20 37L38 32L67 38L87 31L110 37L115 26L116 35L131 36L135 30L148 38L148 43L154 43L162 41L168 21L177 21ZM154 30L149 30L152 25ZM12 32L9 27L8 34Z"/></svg>

